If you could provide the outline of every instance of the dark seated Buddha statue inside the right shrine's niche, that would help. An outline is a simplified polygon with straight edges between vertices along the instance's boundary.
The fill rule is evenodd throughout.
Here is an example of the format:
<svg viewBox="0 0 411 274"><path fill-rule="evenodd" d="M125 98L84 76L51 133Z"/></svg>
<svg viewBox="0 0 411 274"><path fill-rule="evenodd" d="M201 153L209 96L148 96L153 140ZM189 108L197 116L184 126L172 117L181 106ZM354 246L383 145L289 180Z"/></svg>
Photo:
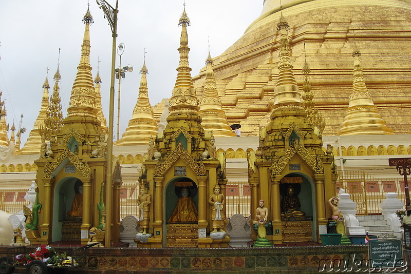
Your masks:
<svg viewBox="0 0 411 274"><path fill-rule="evenodd" d="M281 200L281 220L282 221L303 221L306 220L305 212L300 210L301 204L294 188L287 188L287 195Z"/></svg>

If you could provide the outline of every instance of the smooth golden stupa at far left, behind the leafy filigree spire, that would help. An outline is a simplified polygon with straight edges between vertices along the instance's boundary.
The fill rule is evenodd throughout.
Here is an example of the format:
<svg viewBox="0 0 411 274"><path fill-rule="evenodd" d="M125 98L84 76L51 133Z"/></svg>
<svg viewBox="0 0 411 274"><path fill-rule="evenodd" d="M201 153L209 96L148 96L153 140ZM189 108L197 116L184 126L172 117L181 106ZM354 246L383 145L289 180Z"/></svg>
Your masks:
<svg viewBox="0 0 411 274"><path fill-rule="evenodd" d="M42 97L42 105L39 111L39 115L34 122L33 129L30 131L29 137L27 138L24 147L21 149L21 154L38 154L40 153L40 146L42 144L42 136L41 136L41 127L44 127L44 120L47 118L47 112L49 111L49 102L48 102L48 91L50 89L50 85L48 84L48 68L46 74L46 80L43 84L43 97Z"/></svg>

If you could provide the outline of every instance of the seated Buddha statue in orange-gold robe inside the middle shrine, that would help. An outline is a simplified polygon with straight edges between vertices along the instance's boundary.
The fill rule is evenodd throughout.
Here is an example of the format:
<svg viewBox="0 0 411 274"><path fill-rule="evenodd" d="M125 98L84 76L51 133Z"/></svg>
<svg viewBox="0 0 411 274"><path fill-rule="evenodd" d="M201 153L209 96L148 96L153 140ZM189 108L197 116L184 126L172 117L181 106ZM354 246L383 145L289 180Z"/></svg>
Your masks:
<svg viewBox="0 0 411 274"><path fill-rule="evenodd" d="M190 192L187 187L181 189L181 198L178 199L173 214L169 218L169 224L177 222L197 222L197 208L190 197Z"/></svg>

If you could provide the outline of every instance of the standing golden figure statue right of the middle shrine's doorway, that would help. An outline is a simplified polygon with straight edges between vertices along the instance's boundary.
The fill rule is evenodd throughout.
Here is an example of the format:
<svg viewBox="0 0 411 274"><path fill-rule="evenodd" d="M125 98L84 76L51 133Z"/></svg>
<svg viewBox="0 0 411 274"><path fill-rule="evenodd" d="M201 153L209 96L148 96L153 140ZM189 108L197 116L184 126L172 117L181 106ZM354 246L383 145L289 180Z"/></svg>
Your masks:
<svg viewBox="0 0 411 274"><path fill-rule="evenodd" d="M224 230L226 227L226 216L222 211L224 205L226 204L226 198L224 197L224 194L220 193L220 186L218 183L214 187L214 194L210 195L209 204L211 205L211 222L213 226L213 231L210 233L215 233L218 231L226 232Z"/></svg>

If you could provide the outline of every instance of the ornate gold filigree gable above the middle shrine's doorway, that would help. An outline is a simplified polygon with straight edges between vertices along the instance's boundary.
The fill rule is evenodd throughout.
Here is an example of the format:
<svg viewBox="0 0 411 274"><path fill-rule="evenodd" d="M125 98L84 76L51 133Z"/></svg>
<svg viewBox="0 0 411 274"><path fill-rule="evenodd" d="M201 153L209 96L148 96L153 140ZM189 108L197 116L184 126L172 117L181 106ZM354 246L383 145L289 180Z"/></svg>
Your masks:
<svg viewBox="0 0 411 274"><path fill-rule="evenodd" d="M163 176L167 170L171 168L171 166L177 162L178 159L182 159L190 168L193 170L198 176L206 175L206 167L202 163L202 161L196 162L190 156L187 151L183 148L181 143L177 144L176 149L170 154L170 156L165 159L164 163L160 164L157 163L154 169L155 176Z"/></svg>

